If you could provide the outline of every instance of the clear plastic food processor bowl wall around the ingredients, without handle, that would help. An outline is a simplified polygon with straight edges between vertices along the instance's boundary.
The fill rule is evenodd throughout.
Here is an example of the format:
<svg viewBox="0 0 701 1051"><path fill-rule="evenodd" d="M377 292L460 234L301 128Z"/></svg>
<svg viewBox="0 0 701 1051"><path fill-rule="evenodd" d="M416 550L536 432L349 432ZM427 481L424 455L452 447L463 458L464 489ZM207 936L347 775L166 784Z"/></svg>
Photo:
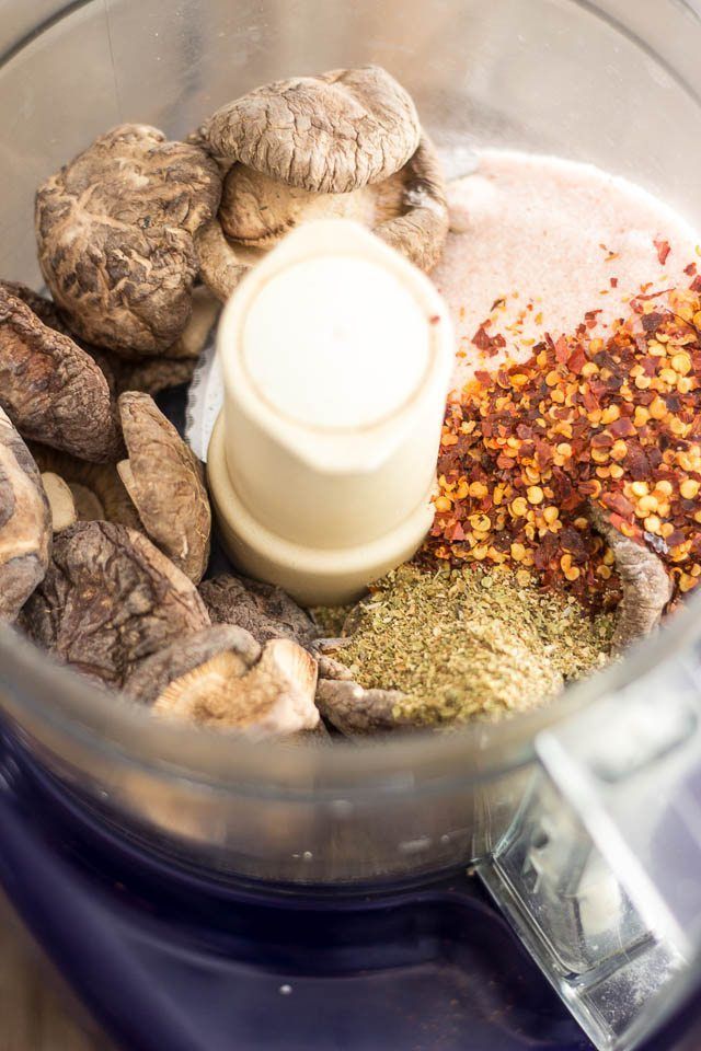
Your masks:
<svg viewBox="0 0 701 1051"><path fill-rule="evenodd" d="M95 135L184 136L256 84L368 62L413 94L449 174L473 146L558 153L701 229L701 20L681 0L5 0L0 53L0 274L37 288L35 187ZM550 708L450 735L325 748L164 725L8 631L0 709L81 805L174 858L277 883L414 878L487 856L552 758L538 742L565 749L586 706L688 693L699 610Z"/></svg>

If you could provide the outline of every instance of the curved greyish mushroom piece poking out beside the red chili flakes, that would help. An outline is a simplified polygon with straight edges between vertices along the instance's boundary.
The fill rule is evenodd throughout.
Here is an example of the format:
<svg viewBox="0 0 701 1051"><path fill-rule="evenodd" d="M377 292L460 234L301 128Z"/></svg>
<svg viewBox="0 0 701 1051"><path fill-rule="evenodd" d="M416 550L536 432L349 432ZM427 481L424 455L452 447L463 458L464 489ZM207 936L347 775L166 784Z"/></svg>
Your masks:
<svg viewBox="0 0 701 1051"><path fill-rule="evenodd" d="M657 555L644 544L619 533L611 524L609 513L598 504L590 504L589 516L613 552L621 578L623 597L611 640L612 652L620 654L657 627L671 599L671 580Z"/></svg>

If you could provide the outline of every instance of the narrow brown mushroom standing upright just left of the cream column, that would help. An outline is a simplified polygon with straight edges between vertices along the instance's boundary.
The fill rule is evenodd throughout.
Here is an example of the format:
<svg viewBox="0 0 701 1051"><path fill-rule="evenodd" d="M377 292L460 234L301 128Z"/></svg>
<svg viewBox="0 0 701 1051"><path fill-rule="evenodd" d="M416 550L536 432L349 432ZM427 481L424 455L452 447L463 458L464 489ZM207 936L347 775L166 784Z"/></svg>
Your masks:
<svg viewBox="0 0 701 1051"><path fill-rule="evenodd" d="M211 532L202 463L148 394L122 394L119 413L128 452L119 476L151 540L197 584Z"/></svg>

